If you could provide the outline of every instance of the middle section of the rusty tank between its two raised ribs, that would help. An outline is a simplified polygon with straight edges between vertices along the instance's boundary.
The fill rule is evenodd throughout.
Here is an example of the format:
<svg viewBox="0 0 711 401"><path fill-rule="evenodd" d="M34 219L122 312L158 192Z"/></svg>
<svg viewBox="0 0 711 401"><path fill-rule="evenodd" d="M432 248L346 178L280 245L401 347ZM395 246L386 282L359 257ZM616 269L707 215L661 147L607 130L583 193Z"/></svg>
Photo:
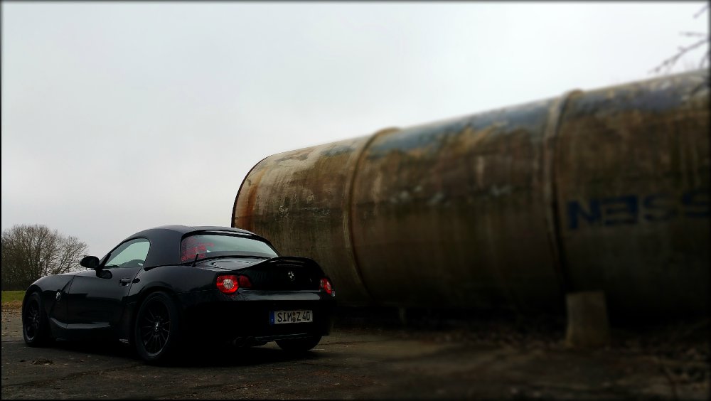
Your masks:
<svg viewBox="0 0 711 401"><path fill-rule="evenodd" d="M377 301L483 308L557 301L540 196L548 107L375 138L353 182L351 213L353 248Z"/></svg>

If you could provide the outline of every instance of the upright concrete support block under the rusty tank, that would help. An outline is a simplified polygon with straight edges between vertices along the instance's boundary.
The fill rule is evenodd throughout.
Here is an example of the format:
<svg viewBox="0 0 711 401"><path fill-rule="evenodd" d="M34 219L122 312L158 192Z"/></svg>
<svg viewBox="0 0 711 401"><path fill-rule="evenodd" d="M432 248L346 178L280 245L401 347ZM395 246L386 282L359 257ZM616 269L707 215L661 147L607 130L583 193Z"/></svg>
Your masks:
<svg viewBox="0 0 711 401"><path fill-rule="evenodd" d="M573 292L565 297L567 330L565 345L571 348L609 346L610 324L607 319L605 293Z"/></svg>

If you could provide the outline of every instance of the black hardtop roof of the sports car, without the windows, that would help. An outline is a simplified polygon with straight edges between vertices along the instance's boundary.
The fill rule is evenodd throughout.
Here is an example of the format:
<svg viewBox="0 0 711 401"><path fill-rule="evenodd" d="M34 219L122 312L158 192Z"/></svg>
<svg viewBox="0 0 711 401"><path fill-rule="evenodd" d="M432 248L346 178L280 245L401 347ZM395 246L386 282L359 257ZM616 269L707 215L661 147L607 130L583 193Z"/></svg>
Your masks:
<svg viewBox="0 0 711 401"><path fill-rule="evenodd" d="M201 231L234 232L235 234L254 235L257 239L272 245L267 239L254 232L242 230L241 228L220 227L218 225L161 225L160 227L149 228L139 231L127 237L121 243L136 238L146 238L151 242L148 257L144 262L144 267L164 266L166 264L180 264L180 242L186 234ZM114 248L115 249L115 248Z"/></svg>

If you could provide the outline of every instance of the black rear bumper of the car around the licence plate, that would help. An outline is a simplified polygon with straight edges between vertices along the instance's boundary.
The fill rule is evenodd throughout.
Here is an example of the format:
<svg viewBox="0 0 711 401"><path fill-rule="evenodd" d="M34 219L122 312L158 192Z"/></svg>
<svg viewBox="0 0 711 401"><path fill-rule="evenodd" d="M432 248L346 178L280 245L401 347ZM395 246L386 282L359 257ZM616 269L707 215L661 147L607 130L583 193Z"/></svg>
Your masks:
<svg viewBox="0 0 711 401"><path fill-rule="evenodd" d="M178 294L183 305L183 330L189 338L233 341L255 338L326 336L331 331L336 300L318 291L262 292L240 289L236 294L217 290ZM313 311L309 323L272 324L272 311Z"/></svg>

